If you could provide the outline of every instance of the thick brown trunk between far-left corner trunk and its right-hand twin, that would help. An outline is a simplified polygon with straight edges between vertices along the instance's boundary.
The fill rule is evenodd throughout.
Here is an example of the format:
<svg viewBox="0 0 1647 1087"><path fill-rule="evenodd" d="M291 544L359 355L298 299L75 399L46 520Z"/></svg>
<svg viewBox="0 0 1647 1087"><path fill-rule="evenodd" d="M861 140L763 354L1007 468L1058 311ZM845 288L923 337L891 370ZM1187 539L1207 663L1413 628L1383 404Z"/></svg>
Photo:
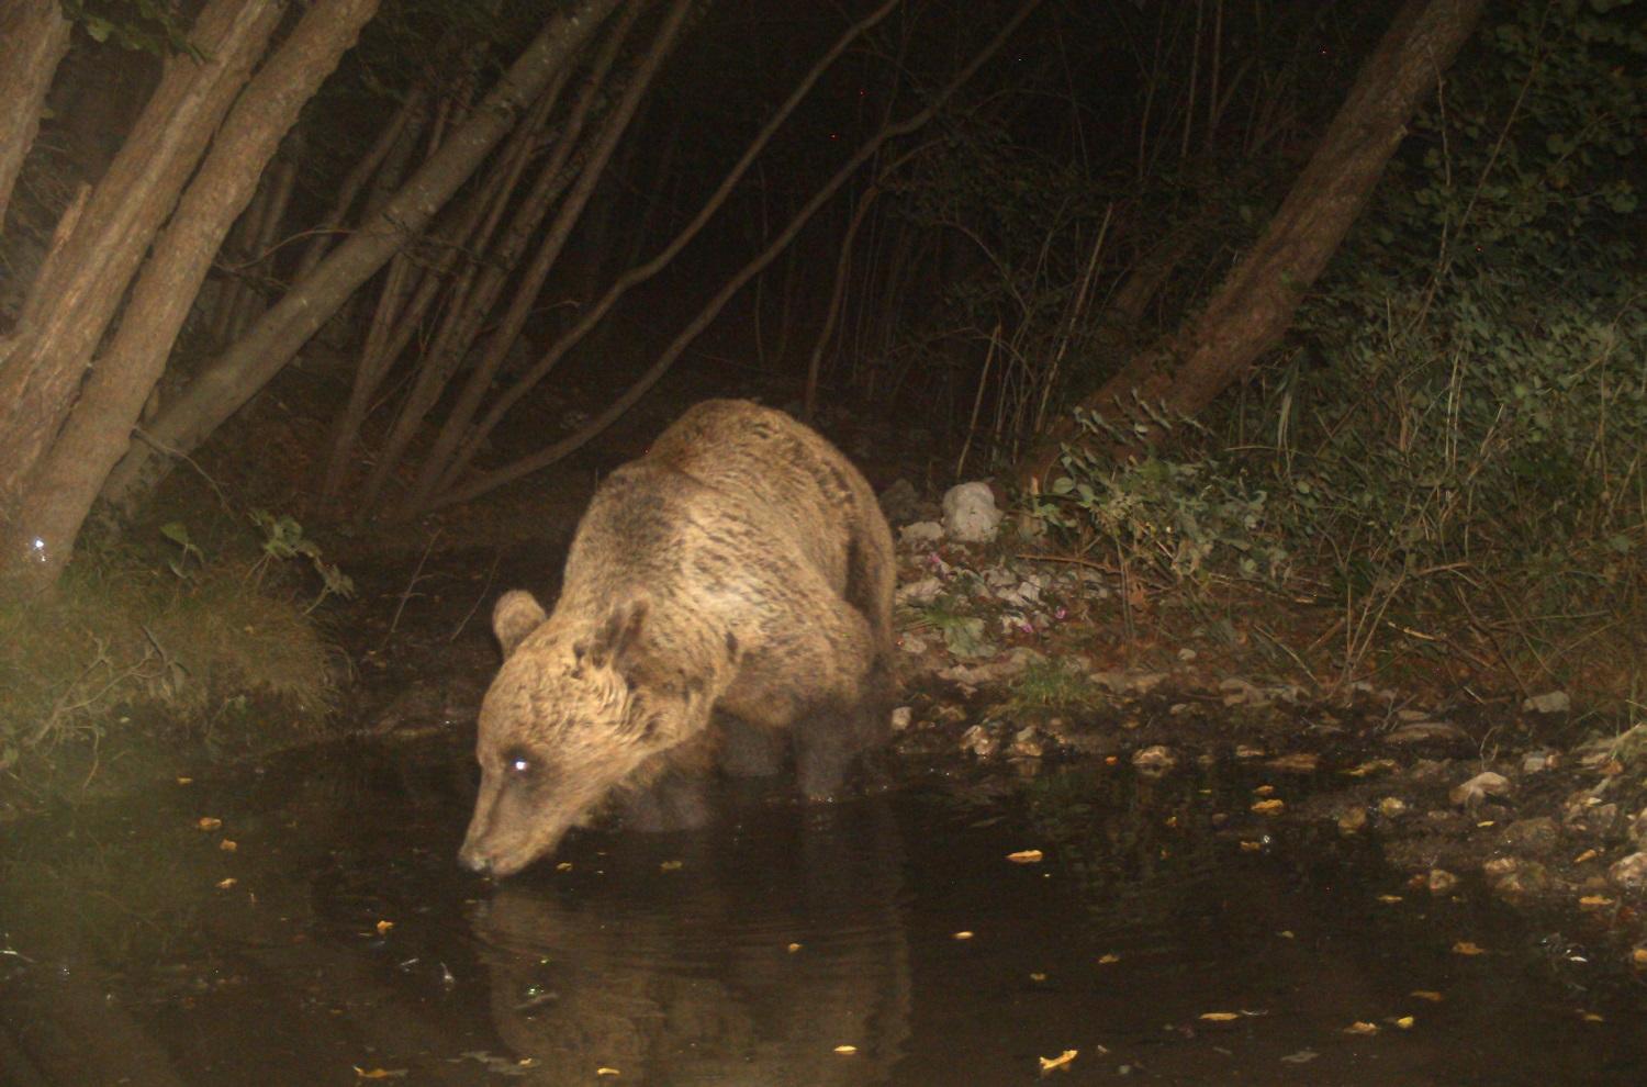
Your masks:
<svg viewBox="0 0 1647 1087"><path fill-rule="evenodd" d="M92 351L212 132L280 21L264 0L212 0L189 31L204 61L173 56L142 117L79 214L58 226L16 334L0 344L0 571L61 562L16 504L74 405ZM147 389L145 389L147 394ZM135 418L135 415L133 415ZM15 550L21 542L23 550Z"/></svg>

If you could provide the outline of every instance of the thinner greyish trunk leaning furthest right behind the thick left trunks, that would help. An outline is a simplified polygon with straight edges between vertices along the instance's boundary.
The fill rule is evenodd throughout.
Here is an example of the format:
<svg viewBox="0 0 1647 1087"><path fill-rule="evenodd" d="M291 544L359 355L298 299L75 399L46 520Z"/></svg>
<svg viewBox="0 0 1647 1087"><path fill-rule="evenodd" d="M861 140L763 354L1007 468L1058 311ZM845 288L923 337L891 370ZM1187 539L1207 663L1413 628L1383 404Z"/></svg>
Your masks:
<svg viewBox="0 0 1647 1087"><path fill-rule="evenodd" d="M295 283L244 339L221 354L183 397L161 412L145 433L147 441L135 445L110 473L104 499L119 512L130 514L170 468L170 460L155 456L155 450L168 455L193 451L268 384L361 283L417 237L555 72L573 63L618 3L581 0L570 12L552 16L479 109L450 133L440 152L395 198L329 252L305 282Z"/></svg>

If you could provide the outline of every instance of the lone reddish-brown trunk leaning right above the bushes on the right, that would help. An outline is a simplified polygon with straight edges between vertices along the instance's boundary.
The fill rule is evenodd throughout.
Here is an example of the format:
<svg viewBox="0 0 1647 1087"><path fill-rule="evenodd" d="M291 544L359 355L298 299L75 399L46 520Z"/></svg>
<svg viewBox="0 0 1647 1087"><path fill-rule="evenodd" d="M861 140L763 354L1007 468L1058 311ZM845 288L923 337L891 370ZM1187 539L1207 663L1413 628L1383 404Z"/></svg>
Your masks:
<svg viewBox="0 0 1647 1087"><path fill-rule="evenodd" d="M1407 0L1263 237L1201 316L1136 354L1079 407L1136 423L1135 433L1148 441L1155 432L1136 418L1135 405L1194 415L1243 377L1286 331L1482 7L1486 0ZM1064 443L1075 440L1072 418L1054 425L1019 464L1024 484L1047 483Z"/></svg>

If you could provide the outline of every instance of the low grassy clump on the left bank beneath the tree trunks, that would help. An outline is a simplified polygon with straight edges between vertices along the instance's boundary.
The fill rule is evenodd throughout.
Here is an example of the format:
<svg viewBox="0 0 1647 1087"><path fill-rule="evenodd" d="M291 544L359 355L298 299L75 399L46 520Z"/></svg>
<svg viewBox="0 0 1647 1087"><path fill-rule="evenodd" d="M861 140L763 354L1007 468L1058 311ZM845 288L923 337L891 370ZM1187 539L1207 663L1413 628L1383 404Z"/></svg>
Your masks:
<svg viewBox="0 0 1647 1087"><path fill-rule="evenodd" d="M244 529L239 544L208 550L170 522L158 535L176 550L91 548L54 599L0 604L0 769L31 749L96 741L140 708L199 731L245 715L249 693L277 703L277 718L329 713L334 652L310 613L352 585L290 517L254 520L265 534L255 557ZM290 558L321 575L306 606L290 575L275 575L275 560Z"/></svg>

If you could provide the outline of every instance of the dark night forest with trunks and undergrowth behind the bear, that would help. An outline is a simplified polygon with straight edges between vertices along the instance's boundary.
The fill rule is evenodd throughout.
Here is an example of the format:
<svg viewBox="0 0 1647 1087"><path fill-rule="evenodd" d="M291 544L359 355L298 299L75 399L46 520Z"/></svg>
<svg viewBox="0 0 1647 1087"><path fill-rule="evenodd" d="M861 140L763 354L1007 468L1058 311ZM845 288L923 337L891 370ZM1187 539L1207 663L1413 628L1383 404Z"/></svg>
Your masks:
<svg viewBox="0 0 1647 1087"><path fill-rule="evenodd" d="M339 555L712 394L1130 637L1640 713L1640 3L13 0L0 89L0 766L323 716Z"/></svg>

